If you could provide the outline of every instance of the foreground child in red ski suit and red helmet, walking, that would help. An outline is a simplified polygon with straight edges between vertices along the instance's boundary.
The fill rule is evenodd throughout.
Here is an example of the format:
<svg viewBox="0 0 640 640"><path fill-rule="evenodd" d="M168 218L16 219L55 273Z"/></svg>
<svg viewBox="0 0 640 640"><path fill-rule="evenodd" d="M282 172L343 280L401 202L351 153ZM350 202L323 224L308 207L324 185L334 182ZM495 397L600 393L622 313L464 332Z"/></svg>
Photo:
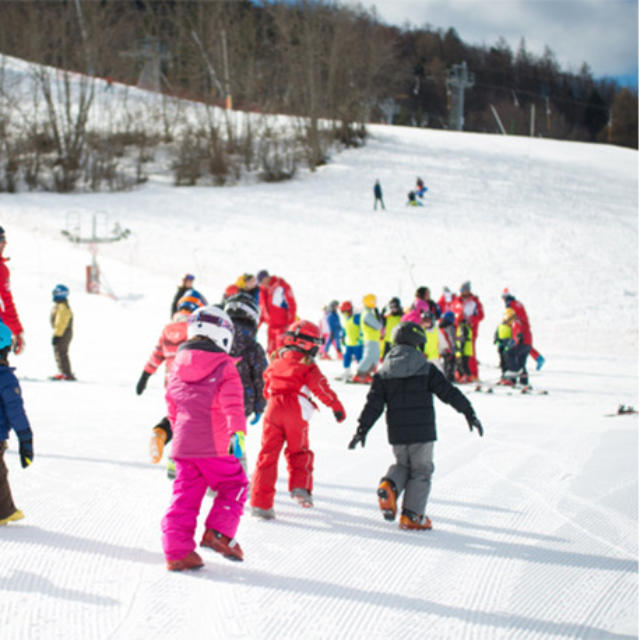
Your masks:
<svg viewBox="0 0 640 640"><path fill-rule="evenodd" d="M267 408L262 446L251 481L253 516L275 518L278 458L285 445L291 497L302 507L313 506L314 455L309 448L309 420L317 406L312 396L330 407L338 422L346 416L338 396L314 361L321 345L316 324L307 320L294 322L284 334L283 347L272 354L265 371Z"/></svg>

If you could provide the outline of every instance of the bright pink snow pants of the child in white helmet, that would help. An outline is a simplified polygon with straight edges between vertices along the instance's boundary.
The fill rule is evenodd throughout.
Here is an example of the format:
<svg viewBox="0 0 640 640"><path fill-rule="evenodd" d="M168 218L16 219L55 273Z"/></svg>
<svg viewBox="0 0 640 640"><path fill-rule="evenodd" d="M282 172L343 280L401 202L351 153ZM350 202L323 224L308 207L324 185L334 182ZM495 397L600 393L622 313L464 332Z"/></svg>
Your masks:
<svg viewBox="0 0 640 640"><path fill-rule="evenodd" d="M162 548L167 560L179 560L194 551L200 505L207 488L217 491L207 529L233 538L247 499L249 481L233 456L220 458L176 458L171 506L162 519Z"/></svg>

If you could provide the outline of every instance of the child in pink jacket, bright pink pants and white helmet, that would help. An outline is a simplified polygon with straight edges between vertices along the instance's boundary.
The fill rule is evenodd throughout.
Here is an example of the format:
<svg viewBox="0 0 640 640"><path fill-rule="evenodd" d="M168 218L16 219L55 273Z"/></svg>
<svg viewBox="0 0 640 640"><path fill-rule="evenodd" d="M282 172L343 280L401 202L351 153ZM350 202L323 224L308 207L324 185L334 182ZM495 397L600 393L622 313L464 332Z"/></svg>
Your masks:
<svg viewBox="0 0 640 640"><path fill-rule="evenodd" d="M203 566L194 534L207 488L217 495L200 546L243 560L234 536L247 498L248 480L240 464L246 422L242 382L229 356L233 323L222 309L201 307L189 317L187 338L166 392L176 462L173 498L162 519L170 571Z"/></svg>

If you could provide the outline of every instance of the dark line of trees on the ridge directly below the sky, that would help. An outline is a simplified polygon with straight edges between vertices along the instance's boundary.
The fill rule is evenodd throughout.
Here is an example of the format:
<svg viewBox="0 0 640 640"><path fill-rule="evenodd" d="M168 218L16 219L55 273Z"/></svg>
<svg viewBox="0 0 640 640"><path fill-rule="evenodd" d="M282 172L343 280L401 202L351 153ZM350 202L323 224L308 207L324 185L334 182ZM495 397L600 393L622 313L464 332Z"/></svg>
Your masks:
<svg viewBox="0 0 640 640"><path fill-rule="evenodd" d="M571 73L548 48L538 57L524 41L515 52L503 39L471 46L453 28L394 27L334 2L5 0L0 52L300 118L311 167L326 158L321 122L346 145L360 144L370 122L451 128L450 78L463 62L474 76L467 131L638 146L637 90L594 78L586 64Z"/></svg>

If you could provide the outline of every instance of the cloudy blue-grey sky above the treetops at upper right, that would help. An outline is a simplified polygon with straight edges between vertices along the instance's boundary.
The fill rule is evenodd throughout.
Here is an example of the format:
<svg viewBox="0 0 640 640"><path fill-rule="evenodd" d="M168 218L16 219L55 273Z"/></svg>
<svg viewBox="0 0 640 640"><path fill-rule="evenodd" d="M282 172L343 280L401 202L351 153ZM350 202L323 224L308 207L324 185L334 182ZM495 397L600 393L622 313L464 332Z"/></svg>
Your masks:
<svg viewBox="0 0 640 640"><path fill-rule="evenodd" d="M347 0L347 4L358 4ZM638 86L636 0L362 0L388 24L454 27L468 44L495 44L502 36L517 50L541 55L545 45L560 66L579 71L586 62L596 77Z"/></svg>

